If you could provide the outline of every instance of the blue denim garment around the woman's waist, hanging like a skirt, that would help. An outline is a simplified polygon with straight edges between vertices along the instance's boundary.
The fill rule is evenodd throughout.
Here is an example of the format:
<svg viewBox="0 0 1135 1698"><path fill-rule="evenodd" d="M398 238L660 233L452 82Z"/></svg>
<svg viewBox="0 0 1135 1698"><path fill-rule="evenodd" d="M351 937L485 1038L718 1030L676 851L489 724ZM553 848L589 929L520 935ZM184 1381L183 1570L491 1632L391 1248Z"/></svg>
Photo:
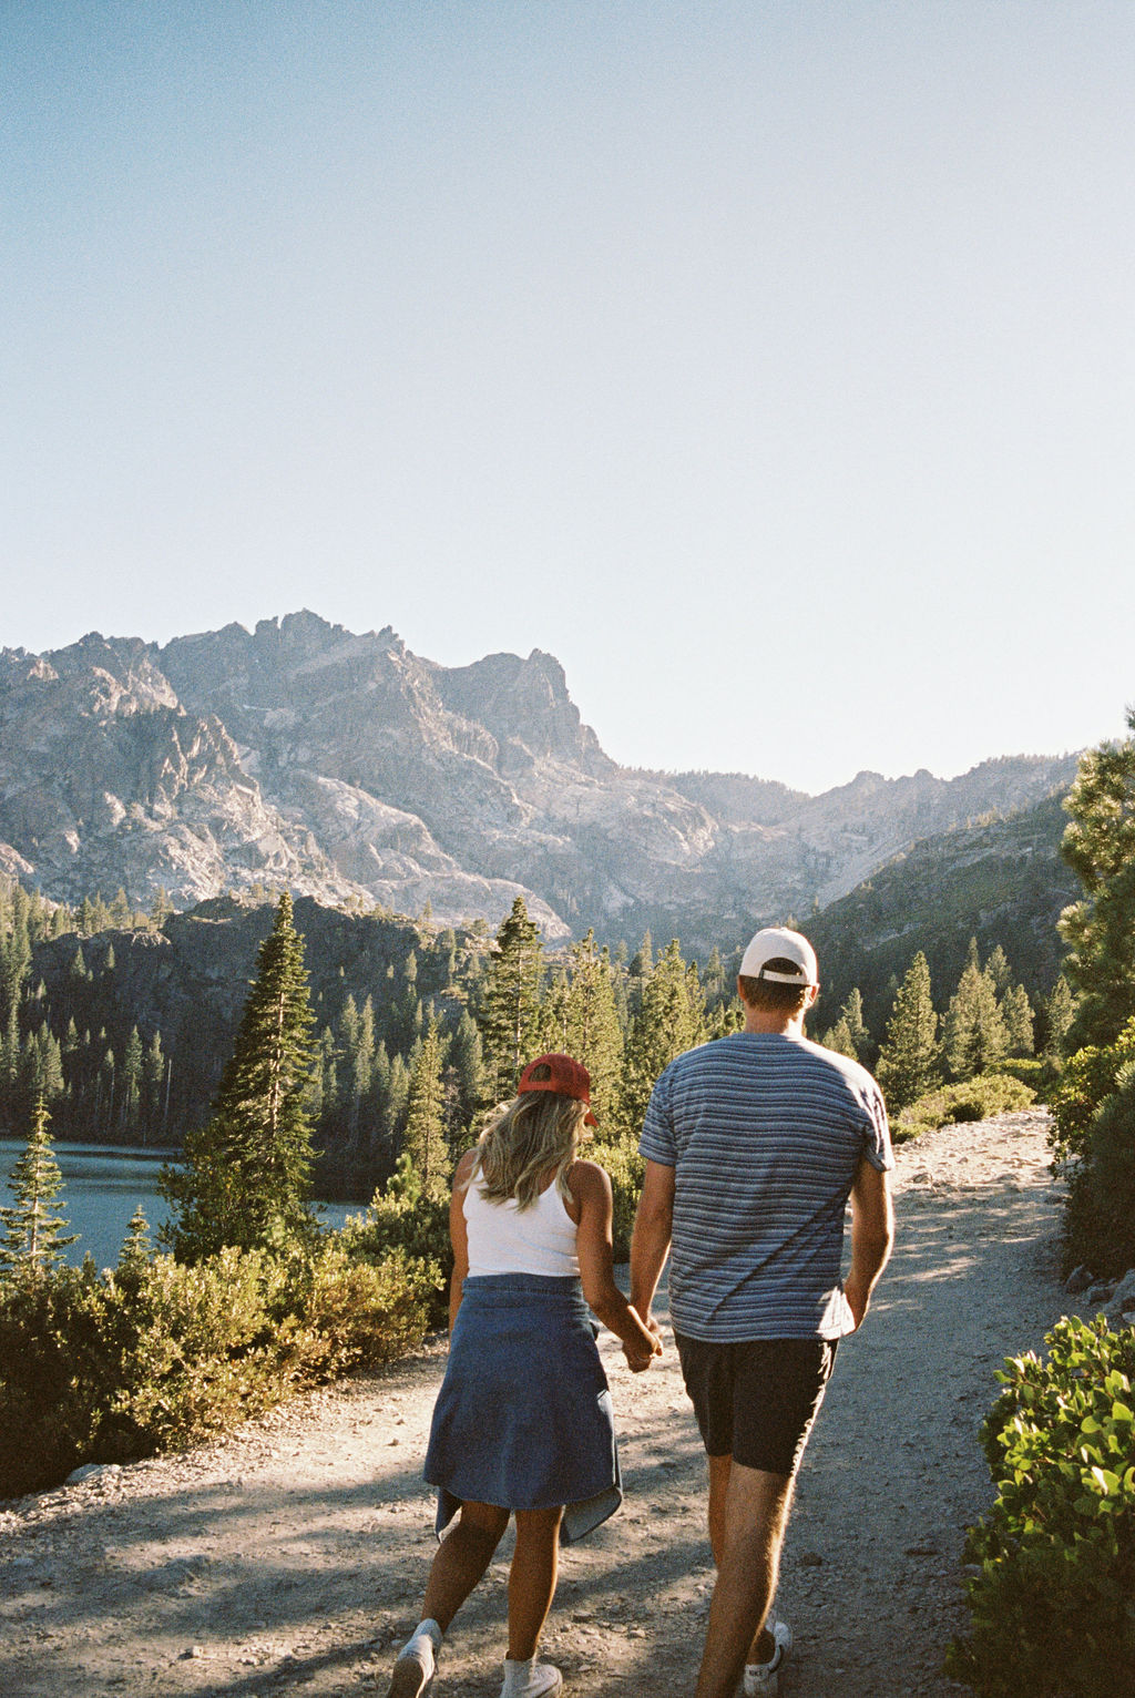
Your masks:
<svg viewBox="0 0 1135 1698"><path fill-rule="evenodd" d="M564 1504L566 1545L613 1515L615 1420L578 1279L464 1282L423 1472L438 1487L438 1533L464 1501Z"/></svg>

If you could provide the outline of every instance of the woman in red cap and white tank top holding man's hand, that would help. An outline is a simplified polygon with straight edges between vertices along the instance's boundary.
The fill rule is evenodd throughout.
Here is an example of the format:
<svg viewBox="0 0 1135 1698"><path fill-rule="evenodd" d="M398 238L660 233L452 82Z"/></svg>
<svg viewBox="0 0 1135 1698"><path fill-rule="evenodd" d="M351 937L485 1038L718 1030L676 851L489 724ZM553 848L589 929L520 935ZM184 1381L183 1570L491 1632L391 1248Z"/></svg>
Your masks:
<svg viewBox="0 0 1135 1698"><path fill-rule="evenodd" d="M537 1662L556 1593L559 1542L581 1538L622 1499L610 1392L588 1306L639 1372L661 1353L612 1274L612 1185L579 1161L588 1070L544 1054L454 1175L450 1355L425 1477L438 1487L440 1545L421 1622L403 1645L389 1698L420 1698L442 1635L517 1516L501 1698L559 1693Z"/></svg>

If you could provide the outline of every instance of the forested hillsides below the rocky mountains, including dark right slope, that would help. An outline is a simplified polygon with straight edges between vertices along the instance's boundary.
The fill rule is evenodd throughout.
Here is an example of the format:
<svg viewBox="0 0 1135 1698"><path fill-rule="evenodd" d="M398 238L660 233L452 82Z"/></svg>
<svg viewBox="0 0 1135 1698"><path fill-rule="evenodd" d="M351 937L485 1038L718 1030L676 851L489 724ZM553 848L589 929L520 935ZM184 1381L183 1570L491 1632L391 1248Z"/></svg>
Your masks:
<svg viewBox="0 0 1135 1698"><path fill-rule="evenodd" d="M1043 1044L1045 998L1059 976L1055 914L1072 893L1057 856L1062 825L1052 798L1014 820L951 832L812 915L807 929L824 978L812 1036L873 1066L899 985L921 951L943 1031L967 961L992 963L996 995L1013 990L1018 998L1002 1053ZM669 942L656 959L649 934L634 953L625 942L610 953L591 936L544 947L523 902L520 912L530 931L523 1044L532 1053L574 1046L596 1077L596 1095L608 1099L612 1133L624 1121L629 1133L675 1044L737 1022L737 956L712 949L700 964L686 963ZM272 914L268 890L184 914L158 897L143 914L122 891L68 908L2 885L0 1124L20 1131L42 1092L58 1138L178 1146L209 1114ZM409 919L301 898L296 925L316 1019L319 1184L364 1199L404 1146L411 1085L432 1032L454 1146L508 1095L493 997L510 922L493 937L481 920L437 927L428 910ZM1019 1012L1025 990L1028 1020ZM651 1022L668 1029L649 1031ZM635 1075L635 1083L617 1094L617 1075Z"/></svg>

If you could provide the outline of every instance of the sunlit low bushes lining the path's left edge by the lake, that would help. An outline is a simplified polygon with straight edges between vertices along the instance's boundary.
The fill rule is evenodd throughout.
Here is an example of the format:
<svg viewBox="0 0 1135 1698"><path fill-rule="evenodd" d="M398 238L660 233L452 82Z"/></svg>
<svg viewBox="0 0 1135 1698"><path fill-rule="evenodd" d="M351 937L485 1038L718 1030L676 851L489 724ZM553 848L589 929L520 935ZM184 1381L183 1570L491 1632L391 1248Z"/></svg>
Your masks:
<svg viewBox="0 0 1135 1698"><path fill-rule="evenodd" d="M0 1496L82 1462L177 1450L350 1367L413 1348L435 1270L360 1258L343 1234L194 1267L138 1243L112 1274L0 1282Z"/></svg>

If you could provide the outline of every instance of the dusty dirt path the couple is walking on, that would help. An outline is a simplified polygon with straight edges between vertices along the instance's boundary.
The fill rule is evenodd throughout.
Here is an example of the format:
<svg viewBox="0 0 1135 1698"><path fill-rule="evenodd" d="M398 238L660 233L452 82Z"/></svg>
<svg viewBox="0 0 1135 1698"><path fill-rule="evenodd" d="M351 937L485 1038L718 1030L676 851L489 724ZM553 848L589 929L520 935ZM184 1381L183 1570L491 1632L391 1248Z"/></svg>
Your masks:
<svg viewBox="0 0 1135 1698"><path fill-rule="evenodd" d="M780 1610L785 1698L948 1698L975 1431L1004 1355L1067 1307L1045 1116L899 1150L899 1238L805 1455ZM664 1321L663 1314L663 1321ZM669 1338L666 1330L666 1338ZM544 1654L569 1698L685 1698L712 1566L673 1347L632 1377L605 1335L625 1503L564 1554ZM3 1698L386 1693L433 1550L420 1479L443 1341L219 1443L0 1504ZM508 1543L454 1625L437 1698L496 1698Z"/></svg>

